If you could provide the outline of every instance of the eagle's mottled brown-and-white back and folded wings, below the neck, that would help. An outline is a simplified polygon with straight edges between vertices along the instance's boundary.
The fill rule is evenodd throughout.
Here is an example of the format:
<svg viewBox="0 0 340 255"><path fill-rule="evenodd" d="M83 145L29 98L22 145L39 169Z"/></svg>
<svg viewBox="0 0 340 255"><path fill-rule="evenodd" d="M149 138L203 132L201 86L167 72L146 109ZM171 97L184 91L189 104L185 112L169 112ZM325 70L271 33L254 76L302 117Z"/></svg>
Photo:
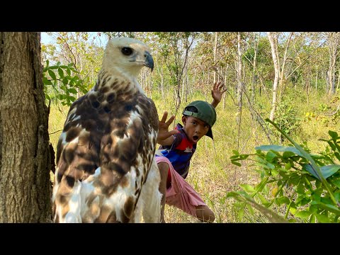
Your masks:
<svg viewBox="0 0 340 255"><path fill-rule="evenodd" d="M152 165L154 103L140 93L103 108L98 101L86 94L67 115L57 145L57 222L129 222Z"/></svg>

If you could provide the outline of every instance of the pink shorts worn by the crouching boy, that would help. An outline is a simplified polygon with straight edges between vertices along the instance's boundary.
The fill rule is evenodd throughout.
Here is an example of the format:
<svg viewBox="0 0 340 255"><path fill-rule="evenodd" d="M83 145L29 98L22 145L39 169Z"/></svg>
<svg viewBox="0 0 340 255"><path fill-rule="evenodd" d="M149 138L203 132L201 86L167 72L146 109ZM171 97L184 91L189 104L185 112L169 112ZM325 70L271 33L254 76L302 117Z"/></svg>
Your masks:
<svg viewBox="0 0 340 255"><path fill-rule="evenodd" d="M180 176L169 159L166 157L156 157L156 162L165 162L169 165L171 173L171 186L166 190L167 205L174 205L176 208L187 212L190 215L196 216L196 206L206 205L198 193Z"/></svg>

